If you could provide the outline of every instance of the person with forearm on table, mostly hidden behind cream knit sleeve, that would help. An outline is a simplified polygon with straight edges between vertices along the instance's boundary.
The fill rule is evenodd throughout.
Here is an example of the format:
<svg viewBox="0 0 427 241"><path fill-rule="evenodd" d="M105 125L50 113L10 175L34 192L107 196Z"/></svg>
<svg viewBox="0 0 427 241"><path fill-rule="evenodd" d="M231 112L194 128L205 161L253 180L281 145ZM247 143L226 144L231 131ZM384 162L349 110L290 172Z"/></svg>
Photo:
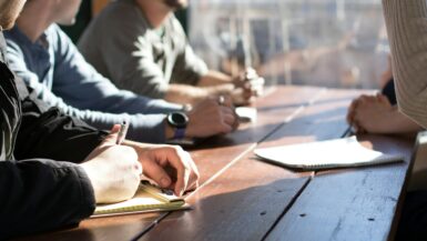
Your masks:
<svg viewBox="0 0 427 241"><path fill-rule="evenodd" d="M392 67L383 73L382 93L363 94L350 103L347 111L347 122L357 133L410 134L423 128L410 118L399 112L396 106L395 84Z"/></svg>

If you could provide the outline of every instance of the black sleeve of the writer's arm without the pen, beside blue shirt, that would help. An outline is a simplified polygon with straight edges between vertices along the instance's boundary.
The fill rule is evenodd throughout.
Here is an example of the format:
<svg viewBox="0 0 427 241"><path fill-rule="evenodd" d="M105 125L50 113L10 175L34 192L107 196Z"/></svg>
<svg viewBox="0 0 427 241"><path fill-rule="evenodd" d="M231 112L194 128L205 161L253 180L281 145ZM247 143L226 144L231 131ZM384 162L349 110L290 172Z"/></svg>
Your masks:
<svg viewBox="0 0 427 241"><path fill-rule="evenodd" d="M104 135L105 132L65 116L57 108L47 110L43 102L29 96L22 101L14 157L18 160L37 157L81 162Z"/></svg>

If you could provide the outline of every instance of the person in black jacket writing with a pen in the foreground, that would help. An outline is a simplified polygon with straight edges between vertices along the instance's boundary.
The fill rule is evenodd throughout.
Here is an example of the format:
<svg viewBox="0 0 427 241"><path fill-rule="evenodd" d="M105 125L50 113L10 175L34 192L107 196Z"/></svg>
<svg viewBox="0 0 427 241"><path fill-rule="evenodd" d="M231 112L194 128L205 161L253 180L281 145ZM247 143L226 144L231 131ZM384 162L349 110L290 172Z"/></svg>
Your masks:
<svg viewBox="0 0 427 241"><path fill-rule="evenodd" d="M0 0L1 29L11 28L24 2ZM142 173L176 194L197 187L197 169L181 148L116 144L119 124L106 133L48 109L4 57L0 33L0 240L79 223L95 203L133 197Z"/></svg>

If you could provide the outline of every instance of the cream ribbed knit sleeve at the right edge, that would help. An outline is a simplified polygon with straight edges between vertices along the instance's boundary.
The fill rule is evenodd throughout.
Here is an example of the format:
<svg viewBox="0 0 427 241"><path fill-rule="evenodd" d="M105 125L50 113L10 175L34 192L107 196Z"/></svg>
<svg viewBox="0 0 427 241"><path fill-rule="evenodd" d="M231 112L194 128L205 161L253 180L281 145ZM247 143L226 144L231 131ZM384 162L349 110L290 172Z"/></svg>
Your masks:
<svg viewBox="0 0 427 241"><path fill-rule="evenodd" d="M425 0L383 0L399 109L427 127L427 18Z"/></svg>

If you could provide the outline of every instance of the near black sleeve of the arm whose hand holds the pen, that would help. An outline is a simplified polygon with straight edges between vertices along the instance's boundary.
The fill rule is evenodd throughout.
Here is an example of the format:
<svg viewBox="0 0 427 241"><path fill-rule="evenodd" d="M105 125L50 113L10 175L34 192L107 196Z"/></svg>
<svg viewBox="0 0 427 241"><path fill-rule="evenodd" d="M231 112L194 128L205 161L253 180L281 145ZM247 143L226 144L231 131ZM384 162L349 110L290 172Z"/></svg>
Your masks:
<svg viewBox="0 0 427 241"><path fill-rule="evenodd" d="M0 162L0 240L79 223L95 201L85 172L53 160Z"/></svg>

